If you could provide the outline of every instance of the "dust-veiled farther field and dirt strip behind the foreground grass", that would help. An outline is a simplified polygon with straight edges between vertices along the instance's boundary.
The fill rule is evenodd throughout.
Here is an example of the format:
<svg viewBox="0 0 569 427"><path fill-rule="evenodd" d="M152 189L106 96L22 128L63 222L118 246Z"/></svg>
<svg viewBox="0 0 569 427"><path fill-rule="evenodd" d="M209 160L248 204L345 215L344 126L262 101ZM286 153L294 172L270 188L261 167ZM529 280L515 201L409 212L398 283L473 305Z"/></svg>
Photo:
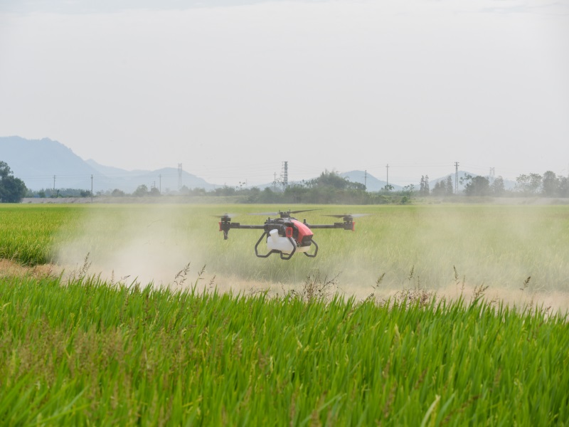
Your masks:
<svg viewBox="0 0 569 427"><path fill-rule="evenodd" d="M288 208L283 208L288 209ZM232 230L223 241L215 216L262 223L252 212L275 205L3 206L0 258L53 263L69 272L88 257L90 273L143 285L171 283L188 263L222 290L288 290L309 275L336 278L339 291L365 298L422 288L458 297L476 287L521 304L531 298L569 307L569 206L294 206L298 215L329 223L325 214L356 218L356 231L317 230L317 258L255 257L258 231ZM378 278L381 285L376 286ZM529 280L528 280L529 278Z"/></svg>

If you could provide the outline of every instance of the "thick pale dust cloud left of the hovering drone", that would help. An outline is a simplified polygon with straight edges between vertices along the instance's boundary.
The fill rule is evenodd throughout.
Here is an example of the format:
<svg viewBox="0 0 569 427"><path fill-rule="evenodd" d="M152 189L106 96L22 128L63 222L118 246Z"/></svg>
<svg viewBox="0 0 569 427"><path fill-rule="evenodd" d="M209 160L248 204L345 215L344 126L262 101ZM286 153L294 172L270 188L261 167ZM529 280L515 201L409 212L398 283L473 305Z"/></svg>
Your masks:
<svg viewBox="0 0 569 427"><path fill-rule="evenodd" d="M166 286L188 263L196 270L203 262L191 227L191 211L176 206L95 206L77 231L60 236L56 263L69 275L88 270L112 283Z"/></svg>

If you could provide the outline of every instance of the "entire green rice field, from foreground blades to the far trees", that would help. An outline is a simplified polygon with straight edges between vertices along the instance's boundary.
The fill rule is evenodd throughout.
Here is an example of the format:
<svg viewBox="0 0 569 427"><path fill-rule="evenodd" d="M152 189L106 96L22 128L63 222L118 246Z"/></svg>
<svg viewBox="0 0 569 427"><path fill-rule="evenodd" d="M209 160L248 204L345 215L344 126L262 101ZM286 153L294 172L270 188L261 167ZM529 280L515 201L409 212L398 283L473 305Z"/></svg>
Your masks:
<svg viewBox="0 0 569 427"><path fill-rule="evenodd" d="M316 208L370 215L283 261L213 218L275 206L0 206L0 419L568 425L567 206Z"/></svg>

